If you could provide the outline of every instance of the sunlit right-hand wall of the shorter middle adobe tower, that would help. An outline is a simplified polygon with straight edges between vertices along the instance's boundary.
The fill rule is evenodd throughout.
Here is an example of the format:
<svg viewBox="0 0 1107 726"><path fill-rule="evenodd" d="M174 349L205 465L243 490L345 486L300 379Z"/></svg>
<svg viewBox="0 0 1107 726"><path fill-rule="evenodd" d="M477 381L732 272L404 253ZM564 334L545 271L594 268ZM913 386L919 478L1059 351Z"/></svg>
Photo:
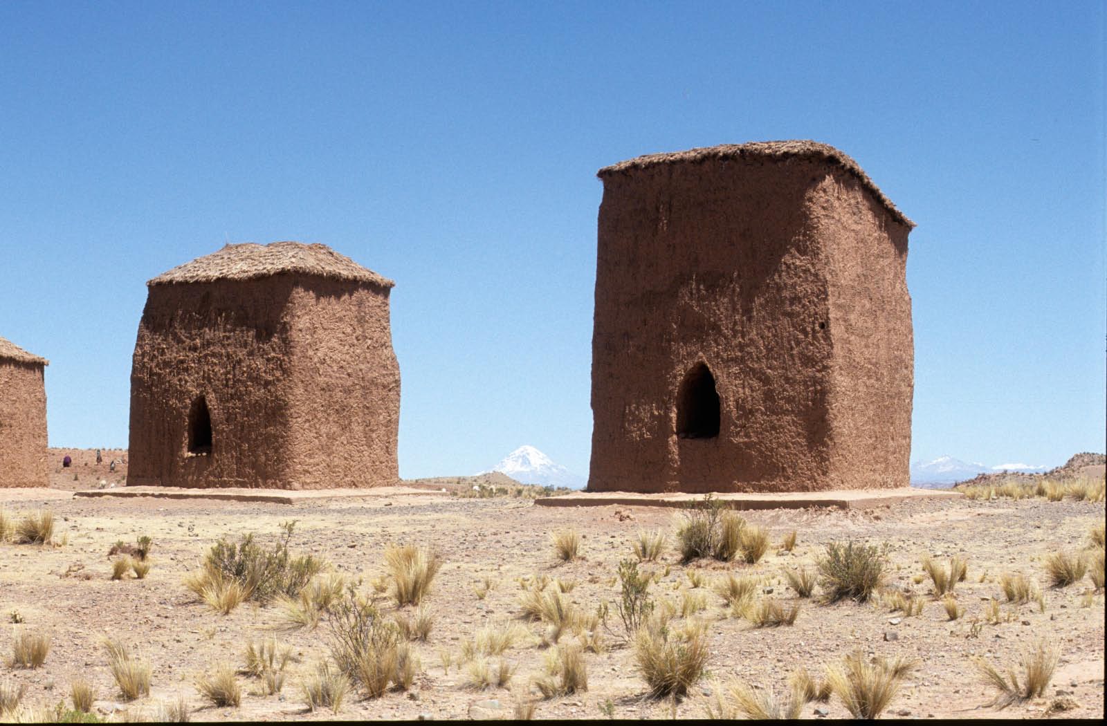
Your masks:
<svg viewBox="0 0 1107 726"><path fill-rule="evenodd" d="M389 290L301 278L289 310L290 486L396 484L400 365Z"/></svg>

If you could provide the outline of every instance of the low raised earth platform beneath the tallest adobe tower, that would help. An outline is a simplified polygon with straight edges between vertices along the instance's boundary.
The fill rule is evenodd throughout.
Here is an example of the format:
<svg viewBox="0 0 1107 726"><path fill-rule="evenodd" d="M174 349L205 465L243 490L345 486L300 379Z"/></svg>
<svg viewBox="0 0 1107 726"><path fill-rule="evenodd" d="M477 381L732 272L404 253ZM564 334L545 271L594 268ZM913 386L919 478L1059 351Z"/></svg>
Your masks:
<svg viewBox="0 0 1107 726"><path fill-rule="evenodd" d="M838 491L780 491L759 494L716 494L714 498L731 509L871 509L906 499L956 499L960 491L949 489L846 489ZM560 497L535 499L540 507L675 507L703 501L702 494L638 494L634 491L581 491Z"/></svg>

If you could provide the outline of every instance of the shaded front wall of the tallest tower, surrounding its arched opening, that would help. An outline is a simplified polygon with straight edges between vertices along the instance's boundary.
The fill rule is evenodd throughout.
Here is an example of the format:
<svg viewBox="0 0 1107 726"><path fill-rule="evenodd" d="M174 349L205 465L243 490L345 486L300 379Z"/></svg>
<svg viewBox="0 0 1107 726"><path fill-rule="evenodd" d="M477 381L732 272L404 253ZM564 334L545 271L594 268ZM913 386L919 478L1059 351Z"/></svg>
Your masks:
<svg viewBox="0 0 1107 726"><path fill-rule="evenodd" d="M808 209L829 173L789 157L604 175L590 490L829 488L831 343ZM697 361L720 433L680 438L677 391Z"/></svg>

